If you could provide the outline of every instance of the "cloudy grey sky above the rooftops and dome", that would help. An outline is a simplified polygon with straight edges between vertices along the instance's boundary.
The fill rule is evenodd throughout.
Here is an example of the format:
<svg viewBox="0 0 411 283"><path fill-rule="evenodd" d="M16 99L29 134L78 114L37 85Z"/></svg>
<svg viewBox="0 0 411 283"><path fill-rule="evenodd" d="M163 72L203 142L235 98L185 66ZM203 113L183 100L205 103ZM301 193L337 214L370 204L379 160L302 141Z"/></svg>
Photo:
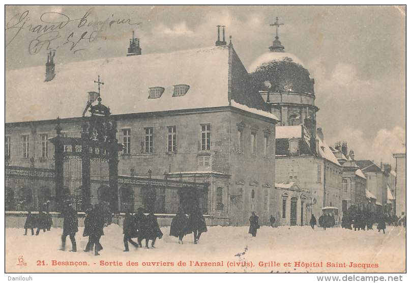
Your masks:
<svg viewBox="0 0 411 283"><path fill-rule="evenodd" d="M56 63L125 56L132 30L143 54L212 46L218 24L248 68L269 50L276 16L285 51L315 79L327 143L345 140L356 159L393 162L405 143L404 7L7 6L6 71L44 65L47 48Z"/></svg>

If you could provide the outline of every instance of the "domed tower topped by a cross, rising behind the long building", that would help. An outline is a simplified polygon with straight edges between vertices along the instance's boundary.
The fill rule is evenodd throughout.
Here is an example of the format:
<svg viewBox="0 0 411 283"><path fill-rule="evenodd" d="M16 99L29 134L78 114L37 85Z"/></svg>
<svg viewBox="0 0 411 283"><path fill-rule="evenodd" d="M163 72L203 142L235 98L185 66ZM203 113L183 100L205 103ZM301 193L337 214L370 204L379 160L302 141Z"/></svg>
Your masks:
<svg viewBox="0 0 411 283"><path fill-rule="evenodd" d="M280 126L303 124L315 137L318 107L314 105L314 79L295 55L284 52L278 37L282 24L278 17L271 24L276 27L273 45L250 65L248 72L271 112L280 119Z"/></svg>

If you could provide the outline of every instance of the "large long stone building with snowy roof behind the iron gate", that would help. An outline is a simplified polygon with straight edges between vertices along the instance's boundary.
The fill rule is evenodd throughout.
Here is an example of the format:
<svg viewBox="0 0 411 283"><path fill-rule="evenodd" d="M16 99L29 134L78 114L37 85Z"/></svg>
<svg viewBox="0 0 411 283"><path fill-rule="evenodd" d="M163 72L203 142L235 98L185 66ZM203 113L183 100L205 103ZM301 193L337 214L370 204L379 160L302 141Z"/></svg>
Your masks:
<svg viewBox="0 0 411 283"><path fill-rule="evenodd" d="M49 138L55 136L55 119L61 118L64 136L80 137L88 119L81 113L96 104L101 92L124 147L120 178L208 184L203 211L233 225L247 224L256 211L261 224L268 223L276 206L278 119L253 87L231 42L223 43L140 55L133 37L124 58L68 64L55 64L57 57L48 60L46 80L44 67L6 72L8 165L53 167ZM98 83L97 93L94 82L100 78L104 85ZM102 186L93 185L92 202L101 201ZM156 188L158 199L162 186ZM134 200L133 210L141 206L142 187L125 194ZM168 201L178 203L179 196Z"/></svg>

